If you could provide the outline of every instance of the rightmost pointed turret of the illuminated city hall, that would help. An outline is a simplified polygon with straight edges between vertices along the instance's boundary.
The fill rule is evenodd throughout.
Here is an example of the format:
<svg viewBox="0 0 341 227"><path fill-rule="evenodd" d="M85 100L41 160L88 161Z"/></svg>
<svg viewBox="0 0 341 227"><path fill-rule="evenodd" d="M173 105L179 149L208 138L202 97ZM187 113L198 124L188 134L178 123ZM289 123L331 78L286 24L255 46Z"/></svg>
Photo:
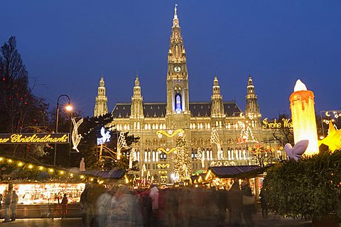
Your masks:
<svg viewBox="0 0 341 227"><path fill-rule="evenodd" d="M254 92L254 82L251 74L249 74L249 80L247 82L247 106L245 108L246 115L249 118L260 118L259 105L257 101L256 93Z"/></svg>

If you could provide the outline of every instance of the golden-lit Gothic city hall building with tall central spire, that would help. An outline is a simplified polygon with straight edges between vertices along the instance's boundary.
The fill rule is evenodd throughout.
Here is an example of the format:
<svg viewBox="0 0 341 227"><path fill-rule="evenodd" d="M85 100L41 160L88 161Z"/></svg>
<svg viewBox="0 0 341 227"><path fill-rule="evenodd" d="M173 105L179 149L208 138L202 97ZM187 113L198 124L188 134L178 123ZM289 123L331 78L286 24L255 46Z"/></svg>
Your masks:
<svg viewBox="0 0 341 227"><path fill-rule="evenodd" d="M140 137L134 150L139 169L144 170L144 174L136 174L149 175L157 182L172 181L175 132L179 129L183 129L188 141L192 172L202 170L203 166L251 164L248 144L238 143L243 129L249 128L261 142L272 138L268 130L261 128L261 114L251 75L247 83L246 113L234 101L223 101L217 76L213 79L210 102L190 102L186 51L176 6L166 78L166 102L144 102L136 76L131 103L117 103L112 111L112 125L119 131L129 131ZM211 142L213 129L221 141L220 146Z"/></svg>

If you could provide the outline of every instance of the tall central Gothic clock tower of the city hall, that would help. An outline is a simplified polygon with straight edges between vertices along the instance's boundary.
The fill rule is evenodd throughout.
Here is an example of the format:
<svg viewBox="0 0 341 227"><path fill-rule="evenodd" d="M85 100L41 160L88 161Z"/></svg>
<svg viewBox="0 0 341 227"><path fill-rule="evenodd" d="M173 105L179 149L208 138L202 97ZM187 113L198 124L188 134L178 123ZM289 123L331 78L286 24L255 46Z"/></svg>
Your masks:
<svg viewBox="0 0 341 227"><path fill-rule="evenodd" d="M188 71L176 6L175 4L171 45L168 50L167 123L168 128L188 128L190 119Z"/></svg>

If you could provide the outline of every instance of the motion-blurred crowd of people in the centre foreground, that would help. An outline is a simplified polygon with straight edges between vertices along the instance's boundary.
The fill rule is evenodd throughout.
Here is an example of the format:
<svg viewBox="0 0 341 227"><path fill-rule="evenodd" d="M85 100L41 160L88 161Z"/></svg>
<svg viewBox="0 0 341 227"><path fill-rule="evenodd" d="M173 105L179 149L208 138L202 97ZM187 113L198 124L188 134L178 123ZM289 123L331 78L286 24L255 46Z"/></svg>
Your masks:
<svg viewBox="0 0 341 227"><path fill-rule="evenodd" d="M255 197L249 184L239 181L229 190L87 184L80 206L85 227L254 226Z"/></svg>

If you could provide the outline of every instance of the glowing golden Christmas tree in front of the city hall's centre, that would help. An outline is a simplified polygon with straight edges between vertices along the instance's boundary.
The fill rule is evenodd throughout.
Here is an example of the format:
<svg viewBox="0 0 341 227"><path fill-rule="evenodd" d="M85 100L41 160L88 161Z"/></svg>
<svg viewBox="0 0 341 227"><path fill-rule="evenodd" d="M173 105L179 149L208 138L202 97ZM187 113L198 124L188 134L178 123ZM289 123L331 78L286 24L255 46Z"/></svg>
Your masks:
<svg viewBox="0 0 341 227"><path fill-rule="evenodd" d="M179 134L176 139L176 148L177 151L174 152L175 181L183 182L185 179L189 179L191 174L190 152L184 134Z"/></svg>

